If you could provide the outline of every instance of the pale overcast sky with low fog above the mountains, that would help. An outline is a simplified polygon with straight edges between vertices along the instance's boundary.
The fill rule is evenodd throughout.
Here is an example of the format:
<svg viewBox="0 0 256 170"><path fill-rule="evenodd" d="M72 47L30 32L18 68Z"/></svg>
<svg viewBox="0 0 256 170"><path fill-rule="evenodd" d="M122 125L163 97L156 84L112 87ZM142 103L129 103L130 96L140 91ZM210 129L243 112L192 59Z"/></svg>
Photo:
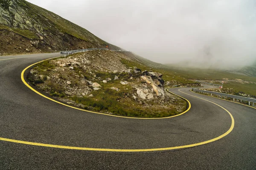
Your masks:
<svg viewBox="0 0 256 170"><path fill-rule="evenodd" d="M28 0L160 63L256 60L256 0Z"/></svg>

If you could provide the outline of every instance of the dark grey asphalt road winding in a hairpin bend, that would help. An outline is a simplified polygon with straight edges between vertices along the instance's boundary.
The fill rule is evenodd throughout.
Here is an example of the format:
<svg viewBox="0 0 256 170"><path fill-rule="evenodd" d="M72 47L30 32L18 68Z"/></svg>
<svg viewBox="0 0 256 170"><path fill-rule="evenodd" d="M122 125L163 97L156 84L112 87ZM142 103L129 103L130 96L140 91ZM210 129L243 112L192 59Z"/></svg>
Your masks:
<svg viewBox="0 0 256 170"><path fill-rule="evenodd" d="M142 150L221 136L232 125L227 111L235 120L234 128L208 144L149 152L61 149L0 140L0 169L256 169L256 109L195 94L190 88L173 88L170 91L189 100L191 109L169 119L127 119L79 111L39 96L21 81L20 74L28 65L58 55L0 57L0 138Z"/></svg>

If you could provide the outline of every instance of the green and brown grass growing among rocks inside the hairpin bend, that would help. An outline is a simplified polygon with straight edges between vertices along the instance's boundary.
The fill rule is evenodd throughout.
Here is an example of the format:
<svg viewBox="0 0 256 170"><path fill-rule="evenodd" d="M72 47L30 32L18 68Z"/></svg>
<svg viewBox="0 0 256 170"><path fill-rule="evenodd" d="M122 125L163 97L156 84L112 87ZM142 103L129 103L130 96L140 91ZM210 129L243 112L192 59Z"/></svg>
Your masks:
<svg viewBox="0 0 256 170"><path fill-rule="evenodd" d="M78 56L79 54L74 54L70 56L70 59L74 59ZM61 59L52 59L35 65L29 75L29 81L40 90L47 92L49 95L63 102L90 111L145 118L173 116L186 110L186 101L168 92L165 92L168 100L158 96L155 96L154 99L151 100L140 99L139 96L137 96L137 88L134 86L145 84L145 81L141 79L143 75L142 72L137 74L120 71L113 73L113 71L101 71L100 69L92 69L93 71L90 71L88 68L82 69L83 67L79 66L73 66L72 69L69 69L69 65L60 67L59 64L56 64L59 61L61 61ZM121 63L127 68L137 67L141 70L163 71L128 59L121 59ZM58 69L64 69L65 71L61 70L58 72ZM61 82L53 81L53 77L57 75L56 73L58 73L58 79L61 79L61 81L70 81L68 87ZM165 73L167 74L167 78L174 79L172 78L173 75L168 74L167 71L165 71ZM118 79L115 79L115 77L118 77ZM111 80L107 83L102 82L102 80L108 78ZM100 90L93 90L93 88L90 87L91 85L85 85L87 82L81 84L81 79L97 82L100 85ZM193 83L192 81L186 82L180 77L178 80L177 83ZM120 81L128 83L122 85ZM71 95L66 92L67 88L79 89L85 88L85 86L92 89L89 89L90 95L77 93ZM111 89L113 87L118 90Z"/></svg>

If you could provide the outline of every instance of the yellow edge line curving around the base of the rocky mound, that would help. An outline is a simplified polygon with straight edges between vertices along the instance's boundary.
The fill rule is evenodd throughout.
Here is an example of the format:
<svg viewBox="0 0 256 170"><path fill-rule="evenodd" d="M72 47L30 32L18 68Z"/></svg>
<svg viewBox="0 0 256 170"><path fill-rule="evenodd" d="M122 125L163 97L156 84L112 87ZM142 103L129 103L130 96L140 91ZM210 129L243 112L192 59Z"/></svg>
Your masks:
<svg viewBox="0 0 256 170"><path fill-rule="evenodd" d="M53 58L50 58L50 59L54 59L54 58L58 58L58 57L53 57ZM46 61L46 60L49 60L49 59L45 59L45 60L40 61L40 62L44 62L44 61ZM32 88L32 87L25 81L25 79L24 79L24 72L25 72L28 68L30 68L30 67L32 67L33 65L36 65L36 64L38 64L38 63L40 63L40 62L36 62L36 63L34 63L34 64L32 64L32 65L29 65L28 67L26 67L26 68L21 72L21 79L22 79L23 83L24 83L28 88L30 88L32 91L34 91L35 93L39 94L40 96L43 96L44 98L47 98L47 99L49 99L49 100L51 100L51 101L53 101L53 102L56 102L56 103L58 103L58 104L61 104L61 105L64 105L64 106L67 106L67 107L70 107L70 108L73 108L73 109L77 109L77 110L79 110L79 111L86 111L86 112L90 112L90 113L97 113L97 114L102 114L102 115L107 115L107 116L114 116L114 117L122 117L122 118L127 118L127 119L168 119L168 118L180 116L180 115L182 115L182 114L188 112L188 111L190 110L190 108L191 108L190 102L189 102L187 99L185 99L185 98L183 98L183 97L181 97L181 96L179 96L179 97L182 98L182 99L185 99L185 100L189 103L189 108L188 108L186 111L184 111L183 113L180 113L180 114L177 114L177 115L174 115L174 116L160 117L160 118L137 118L137 117L116 116L116 115L111 115L111 114L106 114L106 113L99 113L99 112L94 112L94 111L87 111L87 110L84 110L84 109L80 109L80 108L76 108L76 107L73 107L73 106L70 106L70 105L66 105L66 104L64 104L64 103L62 103L62 102L58 102L58 101L56 101L56 100L54 100L54 99L51 99L51 98L45 96L44 94L41 94L39 91L36 91L34 88ZM167 91L168 91L169 93L171 93L171 94L174 94L174 93L170 92L168 89L167 89ZM174 95L178 96L177 94L174 94Z"/></svg>

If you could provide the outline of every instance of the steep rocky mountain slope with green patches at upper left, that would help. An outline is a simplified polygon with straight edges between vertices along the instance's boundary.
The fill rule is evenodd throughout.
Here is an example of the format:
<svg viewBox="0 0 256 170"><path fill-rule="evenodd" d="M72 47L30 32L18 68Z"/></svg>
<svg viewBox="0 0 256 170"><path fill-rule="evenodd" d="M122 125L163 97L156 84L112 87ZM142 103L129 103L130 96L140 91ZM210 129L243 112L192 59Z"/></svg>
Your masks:
<svg viewBox="0 0 256 170"><path fill-rule="evenodd" d="M119 49L25 0L0 0L0 55L83 48Z"/></svg>

